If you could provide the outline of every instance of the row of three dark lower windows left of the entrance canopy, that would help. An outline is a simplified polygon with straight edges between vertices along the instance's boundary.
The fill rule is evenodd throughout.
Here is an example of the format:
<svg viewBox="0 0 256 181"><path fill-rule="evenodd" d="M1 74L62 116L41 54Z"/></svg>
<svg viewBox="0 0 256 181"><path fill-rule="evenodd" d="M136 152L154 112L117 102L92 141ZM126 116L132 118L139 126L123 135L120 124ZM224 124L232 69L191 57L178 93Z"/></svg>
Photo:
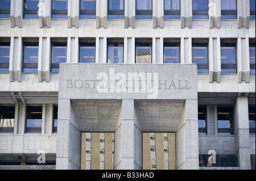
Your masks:
<svg viewBox="0 0 256 181"><path fill-rule="evenodd" d="M58 107L53 107L52 133L57 133ZM25 133L42 132L42 106L28 106ZM0 107L0 133L14 133L15 107Z"/></svg>

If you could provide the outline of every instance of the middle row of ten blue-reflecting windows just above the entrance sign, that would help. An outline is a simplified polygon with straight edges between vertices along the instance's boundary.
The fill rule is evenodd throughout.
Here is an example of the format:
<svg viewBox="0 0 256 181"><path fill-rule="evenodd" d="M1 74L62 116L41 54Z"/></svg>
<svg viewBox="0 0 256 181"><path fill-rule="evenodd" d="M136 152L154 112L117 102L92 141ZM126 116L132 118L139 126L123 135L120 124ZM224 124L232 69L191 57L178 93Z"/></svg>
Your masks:
<svg viewBox="0 0 256 181"><path fill-rule="evenodd" d="M23 43L23 73L38 72L38 42ZM236 43L221 42L221 73L237 73ZM250 73L255 73L255 40L249 43ZM108 39L107 63L123 63L123 39ZM0 43L0 73L9 72L10 42ZM67 41L51 43L51 72L59 72L59 64L67 62ZM82 39L79 43L79 63L96 62L95 40ZM164 39L164 64L180 64L180 41ZM152 63L152 39L135 40L135 63ZM208 41L192 40L192 64L198 73L209 73Z"/></svg>

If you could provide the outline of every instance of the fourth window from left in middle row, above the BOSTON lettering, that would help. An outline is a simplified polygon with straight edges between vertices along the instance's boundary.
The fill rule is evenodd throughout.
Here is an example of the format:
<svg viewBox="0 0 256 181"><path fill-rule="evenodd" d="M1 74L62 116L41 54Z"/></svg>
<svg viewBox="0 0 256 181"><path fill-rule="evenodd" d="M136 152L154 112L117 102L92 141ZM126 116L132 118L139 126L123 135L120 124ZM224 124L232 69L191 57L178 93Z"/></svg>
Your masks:
<svg viewBox="0 0 256 181"><path fill-rule="evenodd" d="M80 63L95 63L95 43L80 43Z"/></svg>

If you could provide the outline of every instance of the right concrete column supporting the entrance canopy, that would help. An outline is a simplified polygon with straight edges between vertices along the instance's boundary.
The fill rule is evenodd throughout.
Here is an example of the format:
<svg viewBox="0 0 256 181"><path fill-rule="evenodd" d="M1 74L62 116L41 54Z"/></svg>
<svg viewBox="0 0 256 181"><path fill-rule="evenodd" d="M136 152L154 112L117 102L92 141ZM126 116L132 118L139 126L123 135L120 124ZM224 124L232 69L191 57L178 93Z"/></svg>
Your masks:
<svg viewBox="0 0 256 181"><path fill-rule="evenodd" d="M179 170L199 169L197 100L186 100L176 132L176 167Z"/></svg>

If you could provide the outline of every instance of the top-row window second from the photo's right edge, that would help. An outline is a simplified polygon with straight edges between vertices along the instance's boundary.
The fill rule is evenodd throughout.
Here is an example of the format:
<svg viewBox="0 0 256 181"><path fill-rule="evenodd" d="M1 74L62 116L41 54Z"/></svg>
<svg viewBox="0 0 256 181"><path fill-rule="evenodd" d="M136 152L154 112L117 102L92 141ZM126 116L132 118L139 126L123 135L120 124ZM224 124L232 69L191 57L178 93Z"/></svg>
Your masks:
<svg viewBox="0 0 256 181"><path fill-rule="evenodd" d="M221 0L221 19L237 19L236 0Z"/></svg>

